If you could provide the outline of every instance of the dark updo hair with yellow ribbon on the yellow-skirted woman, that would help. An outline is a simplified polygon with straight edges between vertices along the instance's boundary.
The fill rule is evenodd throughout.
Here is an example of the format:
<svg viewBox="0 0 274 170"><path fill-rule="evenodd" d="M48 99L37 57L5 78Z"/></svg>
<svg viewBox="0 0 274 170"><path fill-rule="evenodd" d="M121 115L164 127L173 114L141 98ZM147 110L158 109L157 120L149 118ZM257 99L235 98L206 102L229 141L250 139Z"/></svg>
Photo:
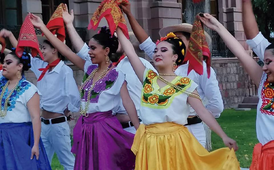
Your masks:
<svg viewBox="0 0 274 170"><path fill-rule="evenodd" d="M184 42L180 38L177 38L177 37L168 38L164 41L171 44L173 54L178 55L176 64L178 66L181 65L182 62L184 61L185 54L186 54L186 45L184 44ZM182 50L184 51L184 54L182 53Z"/></svg>

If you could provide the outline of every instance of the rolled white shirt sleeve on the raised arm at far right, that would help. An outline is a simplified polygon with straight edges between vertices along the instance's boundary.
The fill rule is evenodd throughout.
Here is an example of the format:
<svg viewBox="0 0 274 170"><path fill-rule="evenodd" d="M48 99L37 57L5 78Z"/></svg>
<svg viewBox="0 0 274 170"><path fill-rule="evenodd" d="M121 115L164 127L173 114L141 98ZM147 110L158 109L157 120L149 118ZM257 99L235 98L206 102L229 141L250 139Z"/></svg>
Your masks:
<svg viewBox="0 0 274 170"><path fill-rule="evenodd" d="M246 40L246 43L249 45L249 47L252 48L254 53L257 54L261 61L263 61L266 47L271 44L261 32L259 32L258 35L256 35L256 37L253 39Z"/></svg>

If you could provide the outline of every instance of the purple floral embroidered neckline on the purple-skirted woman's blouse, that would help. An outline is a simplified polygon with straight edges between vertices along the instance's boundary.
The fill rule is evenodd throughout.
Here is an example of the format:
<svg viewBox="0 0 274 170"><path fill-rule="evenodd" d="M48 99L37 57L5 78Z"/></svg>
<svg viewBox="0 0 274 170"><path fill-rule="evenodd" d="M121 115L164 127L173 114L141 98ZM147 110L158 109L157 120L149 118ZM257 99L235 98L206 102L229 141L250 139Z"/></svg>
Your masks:
<svg viewBox="0 0 274 170"><path fill-rule="evenodd" d="M84 82L87 79L88 75L90 75L91 72L97 67L98 66L96 65L89 66L83 77L82 82ZM94 85L94 88L91 92L90 102L97 103L102 91L110 89L113 86L114 82L116 81L117 77L118 77L118 72L113 68L100 81L98 81ZM87 89L90 88L91 85L92 85L92 79L89 82L87 82L86 85L84 86L81 92L81 100L87 101Z"/></svg>

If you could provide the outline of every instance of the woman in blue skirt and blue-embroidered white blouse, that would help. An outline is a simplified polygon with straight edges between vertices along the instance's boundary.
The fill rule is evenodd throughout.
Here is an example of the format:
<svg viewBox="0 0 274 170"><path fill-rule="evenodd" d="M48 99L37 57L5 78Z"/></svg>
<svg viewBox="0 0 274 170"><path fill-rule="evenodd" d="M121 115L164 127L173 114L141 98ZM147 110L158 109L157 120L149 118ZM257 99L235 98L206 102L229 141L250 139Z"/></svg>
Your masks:
<svg viewBox="0 0 274 170"><path fill-rule="evenodd" d="M6 57L1 55L1 62L0 169L49 170L40 138L39 92L24 77L24 71L31 67L30 56L23 52L19 58L13 49Z"/></svg>

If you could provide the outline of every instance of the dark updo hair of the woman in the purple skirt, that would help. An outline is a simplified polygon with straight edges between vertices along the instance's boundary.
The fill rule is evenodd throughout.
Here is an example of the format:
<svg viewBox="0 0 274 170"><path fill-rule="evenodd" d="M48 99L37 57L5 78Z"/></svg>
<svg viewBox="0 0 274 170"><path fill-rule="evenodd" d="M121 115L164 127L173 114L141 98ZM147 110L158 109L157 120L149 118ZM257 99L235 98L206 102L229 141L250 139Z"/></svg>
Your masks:
<svg viewBox="0 0 274 170"><path fill-rule="evenodd" d="M115 35L111 36L110 30L106 29L106 26L102 27L98 34L95 34L92 38L97 41L98 44L102 45L103 49L106 47L109 48L108 57L110 61L115 62L112 54L118 50L118 38L115 37Z"/></svg>

